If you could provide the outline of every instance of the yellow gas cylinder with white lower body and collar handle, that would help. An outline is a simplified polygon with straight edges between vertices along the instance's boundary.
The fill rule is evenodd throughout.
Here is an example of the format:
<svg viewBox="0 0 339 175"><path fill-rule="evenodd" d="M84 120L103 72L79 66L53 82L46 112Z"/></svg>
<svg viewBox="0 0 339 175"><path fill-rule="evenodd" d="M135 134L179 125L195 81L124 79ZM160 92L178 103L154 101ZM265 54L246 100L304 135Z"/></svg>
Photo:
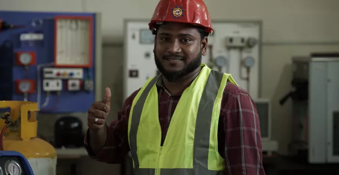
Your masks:
<svg viewBox="0 0 339 175"><path fill-rule="evenodd" d="M51 144L36 137L37 103L0 101L1 108L11 109L8 117L0 120L0 129L8 127L2 139L3 149L23 154L30 162L34 175L56 175L56 150Z"/></svg>

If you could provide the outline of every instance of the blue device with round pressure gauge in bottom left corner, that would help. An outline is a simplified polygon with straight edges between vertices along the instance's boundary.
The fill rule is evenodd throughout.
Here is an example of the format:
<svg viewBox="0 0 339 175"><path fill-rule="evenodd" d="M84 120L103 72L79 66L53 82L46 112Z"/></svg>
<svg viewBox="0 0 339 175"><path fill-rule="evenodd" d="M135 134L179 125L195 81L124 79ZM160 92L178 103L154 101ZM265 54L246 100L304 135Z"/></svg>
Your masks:
<svg viewBox="0 0 339 175"><path fill-rule="evenodd" d="M17 151L0 151L0 175L34 175L28 160Z"/></svg>

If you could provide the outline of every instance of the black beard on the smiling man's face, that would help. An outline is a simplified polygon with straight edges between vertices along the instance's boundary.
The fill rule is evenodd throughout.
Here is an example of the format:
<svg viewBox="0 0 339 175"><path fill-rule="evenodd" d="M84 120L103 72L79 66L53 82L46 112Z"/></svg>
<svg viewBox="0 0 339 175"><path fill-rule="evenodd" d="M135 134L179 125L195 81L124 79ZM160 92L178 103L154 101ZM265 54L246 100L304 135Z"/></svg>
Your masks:
<svg viewBox="0 0 339 175"><path fill-rule="evenodd" d="M183 69L178 71L167 71L164 66L161 64L160 59L164 58L158 58L154 52L154 61L155 65L158 68L158 70L161 72L161 74L168 80L169 82L175 82L177 80L180 80L185 75L195 71L198 67L201 65L202 55L201 50L196 56L194 60L192 60L188 65L186 65ZM185 60L186 58L183 58Z"/></svg>

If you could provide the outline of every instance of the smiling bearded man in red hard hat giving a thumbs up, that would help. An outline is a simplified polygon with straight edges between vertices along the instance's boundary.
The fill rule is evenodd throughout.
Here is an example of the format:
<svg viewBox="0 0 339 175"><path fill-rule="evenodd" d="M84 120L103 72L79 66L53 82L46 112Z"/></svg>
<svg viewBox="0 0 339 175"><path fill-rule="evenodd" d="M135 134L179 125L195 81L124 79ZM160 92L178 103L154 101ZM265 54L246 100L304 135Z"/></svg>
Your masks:
<svg viewBox="0 0 339 175"><path fill-rule="evenodd" d="M204 2L160 0L149 26L161 75L130 95L110 126L106 88L88 111L89 156L120 163L131 151L135 175L265 175L254 101L230 74L201 64L213 32Z"/></svg>

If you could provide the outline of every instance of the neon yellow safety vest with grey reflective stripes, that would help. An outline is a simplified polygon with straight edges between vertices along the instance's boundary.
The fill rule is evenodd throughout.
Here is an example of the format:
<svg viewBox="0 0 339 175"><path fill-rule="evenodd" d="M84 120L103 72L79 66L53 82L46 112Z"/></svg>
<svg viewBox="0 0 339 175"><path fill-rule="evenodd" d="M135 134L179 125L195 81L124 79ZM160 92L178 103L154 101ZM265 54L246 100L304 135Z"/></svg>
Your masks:
<svg viewBox="0 0 339 175"><path fill-rule="evenodd" d="M159 75L146 81L133 100L128 141L135 175L221 175L225 160L218 153L220 105L231 74L205 64L185 89L161 146L158 117ZM236 84L237 85L237 84Z"/></svg>

